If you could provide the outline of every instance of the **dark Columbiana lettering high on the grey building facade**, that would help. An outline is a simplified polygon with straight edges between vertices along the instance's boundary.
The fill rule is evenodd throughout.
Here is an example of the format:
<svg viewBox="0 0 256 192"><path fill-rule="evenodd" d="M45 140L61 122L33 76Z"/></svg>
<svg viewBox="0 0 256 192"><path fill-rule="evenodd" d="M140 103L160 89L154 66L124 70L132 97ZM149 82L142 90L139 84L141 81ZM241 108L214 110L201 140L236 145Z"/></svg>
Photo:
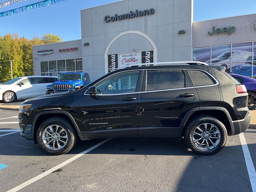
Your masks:
<svg viewBox="0 0 256 192"><path fill-rule="evenodd" d="M130 11L130 13L127 14L122 14L122 15L117 15L115 14L115 16L105 16L104 20L105 22L114 22L114 21L120 21L120 20L126 20L126 19L131 19L131 18L135 18L135 17L141 17L141 16L146 16L146 15L152 15L155 14L155 10L152 8L150 10L144 10L144 11L139 11L136 10L135 12Z"/></svg>

